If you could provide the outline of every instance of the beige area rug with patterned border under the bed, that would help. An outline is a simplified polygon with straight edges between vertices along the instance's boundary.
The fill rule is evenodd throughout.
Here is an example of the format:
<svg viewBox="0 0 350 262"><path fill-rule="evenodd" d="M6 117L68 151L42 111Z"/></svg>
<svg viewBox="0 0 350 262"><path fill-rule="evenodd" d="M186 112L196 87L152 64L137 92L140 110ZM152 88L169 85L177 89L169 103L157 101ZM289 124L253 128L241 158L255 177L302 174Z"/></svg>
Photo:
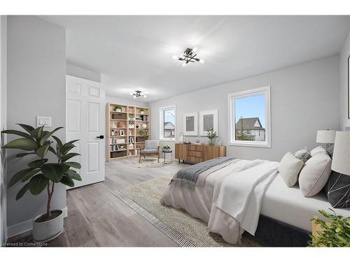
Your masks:
<svg viewBox="0 0 350 262"><path fill-rule="evenodd" d="M183 210L177 210L160 203L162 192L169 184L167 177L147 180L120 190L119 198L139 212L151 224L168 235L180 246L189 247L259 247L253 238L244 235L239 245L230 245L221 235L208 231L207 224L195 219ZM165 228L165 230L162 230ZM168 233L167 233L168 232Z"/></svg>

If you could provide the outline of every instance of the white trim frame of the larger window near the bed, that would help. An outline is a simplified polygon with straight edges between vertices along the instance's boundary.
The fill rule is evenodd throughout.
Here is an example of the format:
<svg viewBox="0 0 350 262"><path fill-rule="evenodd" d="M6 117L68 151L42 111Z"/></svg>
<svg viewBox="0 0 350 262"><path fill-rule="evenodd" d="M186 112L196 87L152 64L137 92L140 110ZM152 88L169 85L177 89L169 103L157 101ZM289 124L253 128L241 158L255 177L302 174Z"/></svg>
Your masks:
<svg viewBox="0 0 350 262"><path fill-rule="evenodd" d="M236 140L235 99L241 99L253 94L265 94L265 141ZM229 145L244 147L268 147L271 148L271 87L260 87L242 92L228 94L228 141ZM232 132L233 130L233 132Z"/></svg>

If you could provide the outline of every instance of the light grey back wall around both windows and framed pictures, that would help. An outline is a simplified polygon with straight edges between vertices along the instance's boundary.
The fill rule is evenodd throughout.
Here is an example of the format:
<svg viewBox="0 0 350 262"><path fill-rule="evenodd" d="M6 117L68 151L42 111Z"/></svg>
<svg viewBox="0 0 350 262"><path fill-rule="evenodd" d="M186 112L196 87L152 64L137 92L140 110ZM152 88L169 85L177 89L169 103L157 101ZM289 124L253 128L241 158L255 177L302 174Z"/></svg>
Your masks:
<svg viewBox="0 0 350 262"><path fill-rule="evenodd" d="M318 129L339 129L339 57L333 56L150 103L152 138L159 138L159 108L175 104L176 139L183 131L184 113L217 108L219 143L228 145L228 94L267 85L271 85L272 148L227 146L228 156L280 161L288 151L315 147Z"/></svg>

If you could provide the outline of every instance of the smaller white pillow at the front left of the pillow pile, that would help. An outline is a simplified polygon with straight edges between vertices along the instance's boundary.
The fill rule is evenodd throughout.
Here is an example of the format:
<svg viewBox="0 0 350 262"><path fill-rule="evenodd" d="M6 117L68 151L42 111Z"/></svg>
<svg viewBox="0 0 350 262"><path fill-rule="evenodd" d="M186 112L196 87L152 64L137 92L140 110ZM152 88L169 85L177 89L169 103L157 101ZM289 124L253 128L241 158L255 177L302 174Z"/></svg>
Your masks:
<svg viewBox="0 0 350 262"><path fill-rule="evenodd" d="M279 163L279 174L283 178L287 187L293 187L297 182L297 176L304 166L304 161L297 159L292 153L288 152L284 155Z"/></svg>

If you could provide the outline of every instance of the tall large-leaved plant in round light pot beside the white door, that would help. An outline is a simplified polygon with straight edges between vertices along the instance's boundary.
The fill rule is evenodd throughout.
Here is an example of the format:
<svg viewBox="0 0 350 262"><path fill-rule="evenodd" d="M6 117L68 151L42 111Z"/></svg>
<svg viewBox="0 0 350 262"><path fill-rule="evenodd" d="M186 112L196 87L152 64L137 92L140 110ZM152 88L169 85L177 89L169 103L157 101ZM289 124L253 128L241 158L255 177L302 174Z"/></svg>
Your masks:
<svg viewBox="0 0 350 262"><path fill-rule="evenodd" d="M78 140L71 140L68 143L62 143L59 138L52 136L62 127L57 127L53 131L44 131L44 126L34 129L27 124L18 124L26 132L17 130L5 130L1 133L9 133L21 138L15 139L4 145L4 149L25 150L16 154L16 157L26 157L28 155L36 156L33 161L28 163L28 168L20 170L11 178L8 186L12 187L18 182L24 183L24 186L18 192L16 201L18 201L29 190L34 196L47 189L48 201L46 203L46 212L38 214L33 220L33 238L36 242L48 242L62 233L63 214L62 210L51 210L51 200L54 194L55 184L62 183L68 187L73 187L73 180L81 181L81 177L76 170L71 168L81 168L80 163L69 161L72 157L79 156L78 153L70 153ZM56 147L52 147L53 138ZM54 163L48 162L48 152L51 152L57 158Z"/></svg>

